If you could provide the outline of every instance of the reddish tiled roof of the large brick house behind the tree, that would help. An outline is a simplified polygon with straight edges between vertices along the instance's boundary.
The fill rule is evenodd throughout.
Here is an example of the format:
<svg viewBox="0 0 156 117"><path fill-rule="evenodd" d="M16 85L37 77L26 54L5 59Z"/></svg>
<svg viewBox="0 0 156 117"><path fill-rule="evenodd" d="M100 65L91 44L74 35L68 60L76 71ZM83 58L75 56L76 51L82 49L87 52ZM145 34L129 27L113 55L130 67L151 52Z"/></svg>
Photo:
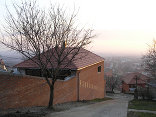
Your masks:
<svg viewBox="0 0 156 117"><path fill-rule="evenodd" d="M70 49L70 48L66 48L65 50ZM32 59L35 59L35 57L33 57ZM44 58L43 58L44 59ZM51 62L53 62L54 67L56 67L57 62L54 61L54 57L51 58ZM67 56L66 58L66 62L69 61L71 59L71 56ZM45 59L46 60L46 59ZM86 50L86 49L81 49L79 54L75 57L74 61L72 61L68 66L61 66L61 68L66 68L66 69L81 69L84 68L86 66L90 66L99 62L104 61L104 58ZM25 60L17 65L15 65L14 67L16 68L23 68L23 69L35 69L35 68L39 68L38 65L36 63L34 63L31 59ZM51 65L49 64L48 67L50 68Z"/></svg>

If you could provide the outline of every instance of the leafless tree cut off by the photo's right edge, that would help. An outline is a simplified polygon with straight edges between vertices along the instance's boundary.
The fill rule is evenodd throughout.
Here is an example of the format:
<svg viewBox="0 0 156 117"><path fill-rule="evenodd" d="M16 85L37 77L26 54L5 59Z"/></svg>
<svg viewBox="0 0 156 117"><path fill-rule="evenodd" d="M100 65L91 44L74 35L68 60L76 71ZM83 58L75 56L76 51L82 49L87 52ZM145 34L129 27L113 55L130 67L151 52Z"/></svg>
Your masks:
<svg viewBox="0 0 156 117"><path fill-rule="evenodd" d="M142 66L151 77L156 78L156 40L153 44L149 45L147 53L142 57Z"/></svg>

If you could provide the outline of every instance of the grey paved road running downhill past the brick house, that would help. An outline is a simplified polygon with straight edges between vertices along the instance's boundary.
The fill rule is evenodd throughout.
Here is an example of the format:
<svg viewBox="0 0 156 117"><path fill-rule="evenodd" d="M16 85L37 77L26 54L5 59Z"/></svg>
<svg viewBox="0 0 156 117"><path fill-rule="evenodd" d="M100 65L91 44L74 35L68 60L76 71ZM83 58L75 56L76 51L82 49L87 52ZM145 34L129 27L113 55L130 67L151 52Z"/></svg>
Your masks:
<svg viewBox="0 0 156 117"><path fill-rule="evenodd" d="M128 100L131 98L127 95L115 95L113 98L114 100L51 113L46 117L127 117Z"/></svg>

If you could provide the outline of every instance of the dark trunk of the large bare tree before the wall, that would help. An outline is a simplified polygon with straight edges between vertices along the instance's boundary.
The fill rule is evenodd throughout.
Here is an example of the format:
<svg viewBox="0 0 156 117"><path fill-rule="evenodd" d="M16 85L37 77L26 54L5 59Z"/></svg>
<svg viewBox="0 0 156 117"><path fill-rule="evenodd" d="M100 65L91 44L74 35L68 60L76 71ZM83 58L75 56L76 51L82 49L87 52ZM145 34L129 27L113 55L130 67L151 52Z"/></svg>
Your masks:
<svg viewBox="0 0 156 117"><path fill-rule="evenodd" d="M54 84L50 86L50 97L49 97L48 108L53 109L53 99L54 99Z"/></svg>

